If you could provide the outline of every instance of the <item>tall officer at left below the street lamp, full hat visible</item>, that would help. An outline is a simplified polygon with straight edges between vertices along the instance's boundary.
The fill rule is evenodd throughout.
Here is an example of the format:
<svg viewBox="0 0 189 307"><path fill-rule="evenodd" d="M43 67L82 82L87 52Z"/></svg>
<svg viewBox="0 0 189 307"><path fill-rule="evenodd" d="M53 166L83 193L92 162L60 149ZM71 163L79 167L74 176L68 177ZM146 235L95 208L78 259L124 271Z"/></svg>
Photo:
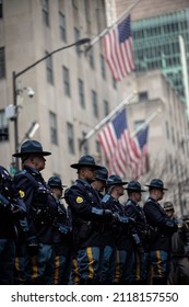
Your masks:
<svg viewBox="0 0 189 307"><path fill-rule="evenodd" d="M58 206L40 173L49 155L37 140L26 140L21 151L13 155L23 164L14 177L14 185L25 202L28 221L28 231L21 229L17 242L17 283L48 284L51 278L48 270L54 254L52 220Z"/></svg>

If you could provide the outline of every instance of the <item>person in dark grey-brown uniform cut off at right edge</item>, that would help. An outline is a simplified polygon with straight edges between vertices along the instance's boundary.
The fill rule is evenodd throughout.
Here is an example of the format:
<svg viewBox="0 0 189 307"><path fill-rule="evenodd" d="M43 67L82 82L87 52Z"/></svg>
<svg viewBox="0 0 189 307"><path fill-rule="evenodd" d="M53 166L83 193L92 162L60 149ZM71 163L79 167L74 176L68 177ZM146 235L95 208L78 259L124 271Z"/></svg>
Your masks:
<svg viewBox="0 0 189 307"><path fill-rule="evenodd" d="M167 216L175 219L175 208L172 202L164 203ZM172 261L169 272L169 283L173 285L189 285L189 236L187 223L178 219L178 230L172 237Z"/></svg>

